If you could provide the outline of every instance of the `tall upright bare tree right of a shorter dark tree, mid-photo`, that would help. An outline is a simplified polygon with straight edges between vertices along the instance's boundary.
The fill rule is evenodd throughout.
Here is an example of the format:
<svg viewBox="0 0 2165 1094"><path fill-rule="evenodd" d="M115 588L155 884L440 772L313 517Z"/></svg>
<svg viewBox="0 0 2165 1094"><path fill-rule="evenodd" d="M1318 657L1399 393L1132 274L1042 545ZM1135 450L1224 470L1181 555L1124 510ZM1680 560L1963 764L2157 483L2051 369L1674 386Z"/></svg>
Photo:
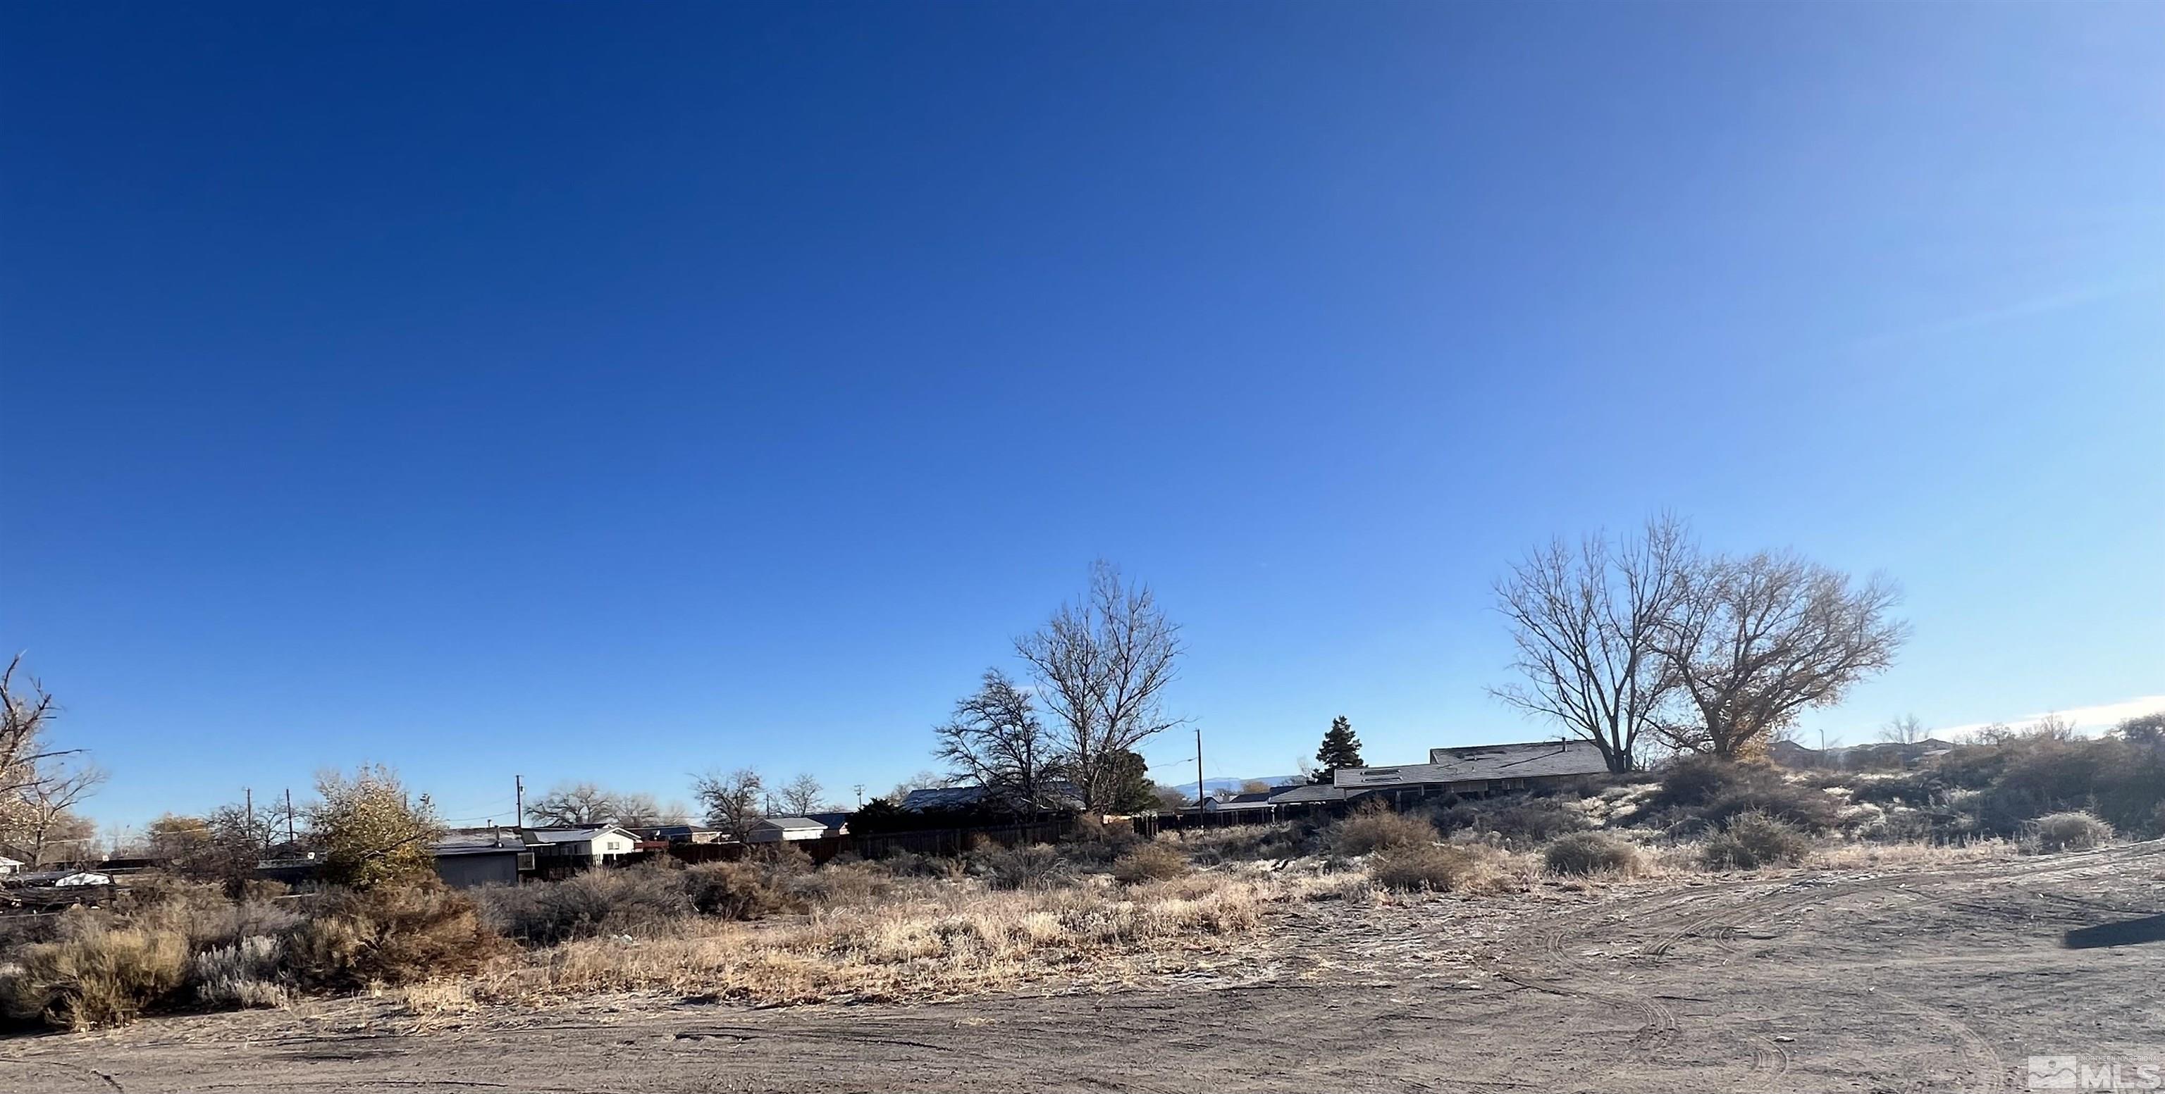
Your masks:
<svg viewBox="0 0 2165 1094"><path fill-rule="evenodd" d="M1165 618L1150 586L1121 582L1100 560L1089 592L1018 638L1015 653L1031 666L1082 804L1111 809L1126 778L1119 752L1180 724L1160 705L1178 675L1180 627Z"/></svg>

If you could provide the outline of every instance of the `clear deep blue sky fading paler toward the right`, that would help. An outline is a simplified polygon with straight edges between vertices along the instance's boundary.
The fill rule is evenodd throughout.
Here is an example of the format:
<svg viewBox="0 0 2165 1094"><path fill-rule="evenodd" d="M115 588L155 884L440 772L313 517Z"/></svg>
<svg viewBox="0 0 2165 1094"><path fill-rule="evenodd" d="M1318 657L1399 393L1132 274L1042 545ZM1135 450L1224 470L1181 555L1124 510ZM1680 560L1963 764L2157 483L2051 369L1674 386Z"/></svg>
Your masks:
<svg viewBox="0 0 2165 1094"><path fill-rule="evenodd" d="M1661 508L1903 582L1808 729L2165 694L2156 4L6 4L0 158L102 819L879 789L1098 556L1212 776L1539 735Z"/></svg>

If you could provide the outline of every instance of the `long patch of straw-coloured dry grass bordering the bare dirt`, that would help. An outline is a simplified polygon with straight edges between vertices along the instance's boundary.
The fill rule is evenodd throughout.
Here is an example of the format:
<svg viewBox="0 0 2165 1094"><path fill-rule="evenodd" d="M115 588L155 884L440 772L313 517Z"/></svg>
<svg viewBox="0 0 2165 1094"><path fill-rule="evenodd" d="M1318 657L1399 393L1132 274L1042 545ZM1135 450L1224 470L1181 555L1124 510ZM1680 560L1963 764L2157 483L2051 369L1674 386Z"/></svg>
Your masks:
<svg viewBox="0 0 2165 1094"><path fill-rule="evenodd" d="M944 999L1061 977L1119 982L1221 953L1297 886L1197 873L1128 889L992 891L920 882L905 899L818 910L803 921L686 921L637 943L580 940L481 979L478 997L537 1001L671 990L758 1003Z"/></svg>

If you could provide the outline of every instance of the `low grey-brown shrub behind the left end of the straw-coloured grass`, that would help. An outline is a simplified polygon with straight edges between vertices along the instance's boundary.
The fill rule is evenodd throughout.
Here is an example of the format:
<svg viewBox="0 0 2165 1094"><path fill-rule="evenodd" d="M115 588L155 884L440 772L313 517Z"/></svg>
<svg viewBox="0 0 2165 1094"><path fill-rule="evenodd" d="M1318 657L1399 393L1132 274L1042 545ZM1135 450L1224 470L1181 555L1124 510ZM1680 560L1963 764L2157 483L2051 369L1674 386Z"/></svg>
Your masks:
<svg viewBox="0 0 2165 1094"><path fill-rule="evenodd" d="M650 934L693 910L678 873L656 867L591 869L561 882L474 893L489 928L535 945L598 934Z"/></svg>

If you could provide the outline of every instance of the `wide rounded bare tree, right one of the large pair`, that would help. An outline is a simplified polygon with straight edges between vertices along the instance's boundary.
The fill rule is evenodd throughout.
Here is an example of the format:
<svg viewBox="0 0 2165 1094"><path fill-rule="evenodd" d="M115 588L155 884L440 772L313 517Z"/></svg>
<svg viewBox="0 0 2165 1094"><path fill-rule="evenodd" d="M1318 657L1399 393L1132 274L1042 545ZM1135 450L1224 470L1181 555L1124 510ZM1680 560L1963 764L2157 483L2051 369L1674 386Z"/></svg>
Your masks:
<svg viewBox="0 0 2165 1094"><path fill-rule="evenodd" d="M1658 646L1689 705L1661 733L1680 750L1747 755L1808 707L1894 664L1899 592L1795 553L1695 562Z"/></svg>

